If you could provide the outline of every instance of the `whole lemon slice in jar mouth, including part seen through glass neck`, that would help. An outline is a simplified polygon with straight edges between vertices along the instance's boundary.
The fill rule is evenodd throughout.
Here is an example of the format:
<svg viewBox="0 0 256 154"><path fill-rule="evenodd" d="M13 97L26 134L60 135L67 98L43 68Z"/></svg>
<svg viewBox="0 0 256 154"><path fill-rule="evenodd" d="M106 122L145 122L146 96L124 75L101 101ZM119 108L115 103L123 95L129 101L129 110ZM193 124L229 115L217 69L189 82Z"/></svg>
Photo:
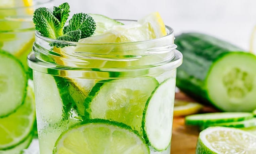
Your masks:
<svg viewBox="0 0 256 154"><path fill-rule="evenodd" d="M158 12L153 12L137 22L132 22L125 25L115 25L110 30L104 31L103 34L94 37L81 39L80 43L124 43L124 42L136 42L145 41L160 38L167 35L165 24ZM148 47L148 46L147 46ZM123 58L122 60L102 60L107 58L115 59L118 56L131 57L133 55L144 54L145 45L94 45L84 46L78 45L75 48L75 52L83 53L96 53L93 60L87 59L88 67L92 68L114 68L114 67L127 67L134 65L143 65L149 62L157 62L162 60L161 56L143 56L142 58ZM152 44L152 48L155 45ZM143 50L141 50L143 49ZM142 53L140 53L142 52ZM104 57L98 55L101 53ZM120 58L120 57L119 57Z"/></svg>

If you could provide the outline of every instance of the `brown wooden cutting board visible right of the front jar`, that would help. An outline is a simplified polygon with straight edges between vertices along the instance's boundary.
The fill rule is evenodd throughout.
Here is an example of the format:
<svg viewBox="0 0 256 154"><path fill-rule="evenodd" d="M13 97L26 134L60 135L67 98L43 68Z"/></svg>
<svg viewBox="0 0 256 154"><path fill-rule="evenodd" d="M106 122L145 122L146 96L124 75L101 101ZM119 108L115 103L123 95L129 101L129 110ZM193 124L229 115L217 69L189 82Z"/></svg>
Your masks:
<svg viewBox="0 0 256 154"><path fill-rule="evenodd" d="M194 101L183 93L176 93L175 99ZM217 112L211 106L205 106L202 112ZM174 117L172 127L171 154L195 154L200 131L195 126L186 126L184 117Z"/></svg>

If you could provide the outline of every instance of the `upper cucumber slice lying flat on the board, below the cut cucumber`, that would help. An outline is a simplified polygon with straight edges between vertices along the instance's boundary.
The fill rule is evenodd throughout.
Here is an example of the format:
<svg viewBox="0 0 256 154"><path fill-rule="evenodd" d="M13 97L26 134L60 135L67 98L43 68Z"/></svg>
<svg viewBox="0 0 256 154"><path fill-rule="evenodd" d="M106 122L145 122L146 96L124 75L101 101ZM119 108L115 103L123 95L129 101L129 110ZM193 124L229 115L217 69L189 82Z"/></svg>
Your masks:
<svg viewBox="0 0 256 154"><path fill-rule="evenodd" d="M185 124L202 126L224 122L243 121L251 118L253 118L253 114L248 112L204 113L186 116Z"/></svg>

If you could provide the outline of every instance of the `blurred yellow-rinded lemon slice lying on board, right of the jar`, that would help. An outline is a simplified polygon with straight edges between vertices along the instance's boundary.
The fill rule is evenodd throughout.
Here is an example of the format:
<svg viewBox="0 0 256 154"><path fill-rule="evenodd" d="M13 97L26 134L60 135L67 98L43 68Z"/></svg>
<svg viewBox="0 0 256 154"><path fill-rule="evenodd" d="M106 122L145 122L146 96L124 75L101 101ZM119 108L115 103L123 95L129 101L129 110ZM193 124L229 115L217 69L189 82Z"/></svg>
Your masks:
<svg viewBox="0 0 256 154"><path fill-rule="evenodd" d="M196 102L186 102L175 100L174 102L174 109L173 109L173 116L184 116L189 114L198 113L203 106Z"/></svg>

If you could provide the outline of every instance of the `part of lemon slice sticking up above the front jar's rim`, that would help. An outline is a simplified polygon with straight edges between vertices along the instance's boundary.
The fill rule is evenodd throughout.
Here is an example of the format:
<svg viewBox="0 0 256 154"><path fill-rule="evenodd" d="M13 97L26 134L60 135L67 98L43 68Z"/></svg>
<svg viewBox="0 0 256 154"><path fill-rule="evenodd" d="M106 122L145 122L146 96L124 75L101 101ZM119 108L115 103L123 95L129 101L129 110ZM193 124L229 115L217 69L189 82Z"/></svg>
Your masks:
<svg viewBox="0 0 256 154"><path fill-rule="evenodd" d="M81 39L81 43L123 43L145 41L163 37L167 34L165 24L158 12L153 12L137 22L116 25L102 35ZM79 47L78 47L79 48Z"/></svg>

